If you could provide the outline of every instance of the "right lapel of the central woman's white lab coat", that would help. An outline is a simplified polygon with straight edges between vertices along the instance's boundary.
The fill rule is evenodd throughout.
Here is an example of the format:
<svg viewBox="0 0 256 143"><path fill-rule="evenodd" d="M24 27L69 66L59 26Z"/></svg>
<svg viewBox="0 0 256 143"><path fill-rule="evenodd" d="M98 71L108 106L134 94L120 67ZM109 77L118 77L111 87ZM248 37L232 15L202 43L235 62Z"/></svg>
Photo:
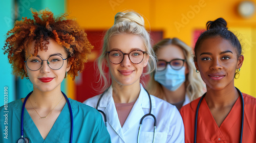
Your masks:
<svg viewBox="0 0 256 143"><path fill-rule="evenodd" d="M146 112L143 111L143 108L146 108ZM126 131L129 129L134 129L132 128L133 126L138 126L139 129L139 124L141 118L149 112L150 109L150 100L148 99L148 94L144 90L143 86L140 86L140 94L138 99L136 100L131 112L126 118L126 121L123 124L122 130L123 133L125 134Z"/></svg>

